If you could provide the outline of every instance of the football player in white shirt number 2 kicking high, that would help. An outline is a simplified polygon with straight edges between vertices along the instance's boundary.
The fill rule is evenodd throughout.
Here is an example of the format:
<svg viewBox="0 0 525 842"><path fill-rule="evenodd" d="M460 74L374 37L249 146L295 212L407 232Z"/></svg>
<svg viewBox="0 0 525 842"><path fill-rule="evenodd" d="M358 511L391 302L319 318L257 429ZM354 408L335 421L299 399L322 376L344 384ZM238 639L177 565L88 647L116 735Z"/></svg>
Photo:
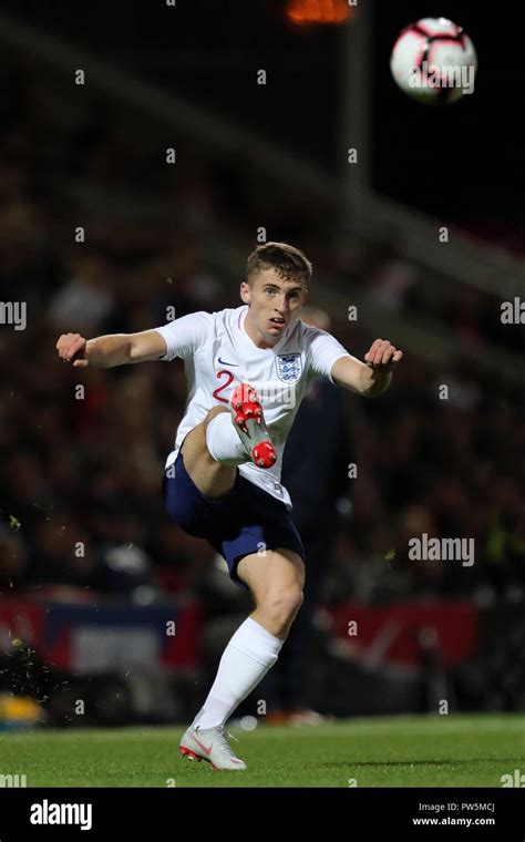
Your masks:
<svg viewBox="0 0 525 842"><path fill-rule="evenodd" d="M299 316L311 271L298 248L267 243L248 257L240 307L189 314L138 333L87 341L66 333L56 342L59 356L79 368L185 361L186 411L166 460L164 501L185 532L223 555L256 606L229 640L181 740L183 756L216 769L247 768L225 723L277 661L302 602L305 551L280 483L302 397L316 374L366 397L381 394L402 358L391 342L375 339L363 363L330 333L305 325Z"/></svg>

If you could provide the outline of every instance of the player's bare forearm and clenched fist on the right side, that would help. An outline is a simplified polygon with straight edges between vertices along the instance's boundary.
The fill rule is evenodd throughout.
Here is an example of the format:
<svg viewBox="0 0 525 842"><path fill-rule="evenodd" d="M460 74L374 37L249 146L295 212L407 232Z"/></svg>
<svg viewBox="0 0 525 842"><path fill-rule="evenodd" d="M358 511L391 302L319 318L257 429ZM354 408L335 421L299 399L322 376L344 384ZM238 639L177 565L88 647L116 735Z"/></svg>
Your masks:
<svg viewBox="0 0 525 842"><path fill-rule="evenodd" d="M392 371L402 357L403 351L398 351L388 339L375 339L364 355L366 362L340 357L332 366L331 376L339 386L366 398L375 398L389 388Z"/></svg>

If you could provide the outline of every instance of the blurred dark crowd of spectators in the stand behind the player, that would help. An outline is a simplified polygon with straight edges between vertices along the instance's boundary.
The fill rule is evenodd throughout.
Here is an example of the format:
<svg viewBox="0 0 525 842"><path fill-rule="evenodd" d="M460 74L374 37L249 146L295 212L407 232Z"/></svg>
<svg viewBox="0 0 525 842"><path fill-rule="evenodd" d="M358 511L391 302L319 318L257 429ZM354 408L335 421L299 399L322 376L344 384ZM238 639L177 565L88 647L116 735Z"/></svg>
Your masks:
<svg viewBox="0 0 525 842"><path fill-rule="evenodd" d="M322 306L323 273L340 268L323 245L330 220L286 185L266 187L246 162L150 132L71 85L37 82L20 59L2 73L0 301L27 302L27 329L0 326L0 593L146 599L198 589L214 553L171 523L161 500L186 399L183 363L81 372L58 358L56 339L148 329L168 308L179 317L238 306L243 266L217 269L212 244L248 254L261 218L271 238L313 260L312 299ZM184 164L166 163L171 146ZM395 287L392 260L364 261L353 280L384 298ZM420 318L430 308L444 336L502 339L500 328L487 331L485 299L460 290L435 302L412 286L410 266L403 271L406 296L393 309L401 300ZM346 320L332 332L358 357L375 338ZM385 396L347 400L358 475L325 597L521 598L523 396L475 367L442 371L409 355ZM475 564L409 561L409 538L423 533L474 538Z"/></svg>

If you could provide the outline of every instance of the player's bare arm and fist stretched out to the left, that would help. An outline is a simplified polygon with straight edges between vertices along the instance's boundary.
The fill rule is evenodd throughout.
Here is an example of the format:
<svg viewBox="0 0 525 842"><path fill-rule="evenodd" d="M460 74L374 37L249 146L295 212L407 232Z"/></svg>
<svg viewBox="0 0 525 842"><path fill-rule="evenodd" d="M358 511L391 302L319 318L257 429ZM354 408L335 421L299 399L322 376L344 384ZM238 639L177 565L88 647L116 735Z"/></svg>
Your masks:
<svg viewBox="0 0 525 842"><path fill-rule="evenodd" d="M80 333L62 333L56 342L59 357L74 368L113 368L131 362L157 360L167 351L165 339L156 330L140 333L109 333L85 339Z"/></svg>

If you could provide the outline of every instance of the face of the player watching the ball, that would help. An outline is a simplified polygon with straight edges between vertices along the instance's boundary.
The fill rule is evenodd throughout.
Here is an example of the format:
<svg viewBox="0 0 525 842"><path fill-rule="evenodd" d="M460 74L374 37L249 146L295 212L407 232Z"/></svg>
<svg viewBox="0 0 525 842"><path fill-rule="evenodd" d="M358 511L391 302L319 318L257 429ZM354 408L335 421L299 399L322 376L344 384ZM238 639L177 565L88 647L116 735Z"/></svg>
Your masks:
<svg viewBox="0 0 525 842"><path fill-rule="evenodd" d="M275 345L282 330L299 317L307 287L300 278L284 278L275 269L261 269L251 284L241 284L243 301L249 305L245 325L255 329L268 345Z"/></svg>

